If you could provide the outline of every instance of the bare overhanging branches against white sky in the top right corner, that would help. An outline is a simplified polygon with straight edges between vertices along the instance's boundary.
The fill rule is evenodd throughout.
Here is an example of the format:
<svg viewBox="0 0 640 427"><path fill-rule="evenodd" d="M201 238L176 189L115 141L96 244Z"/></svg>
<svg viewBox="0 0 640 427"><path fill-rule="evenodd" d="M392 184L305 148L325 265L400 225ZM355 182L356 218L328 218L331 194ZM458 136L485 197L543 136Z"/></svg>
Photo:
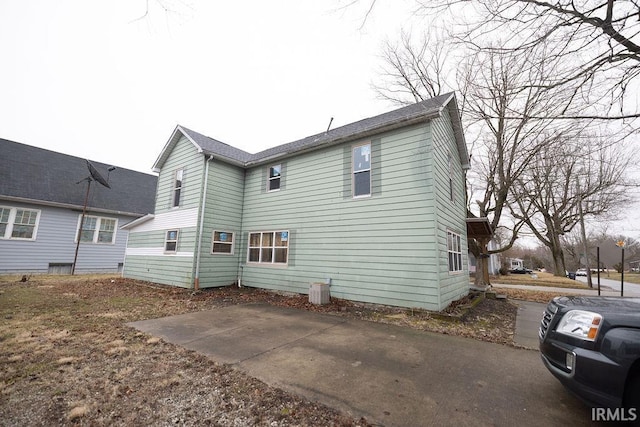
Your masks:
<svg viewBox="0 0 640 427"><path fill-rule="evenodd" d="M640 117L635 90L640 74L640 6L636 0L432 0L418 2L423 12L452 12L456 38L481 50L530 57L544 51L562 64L539 82L564 86L557 117L634 119ZM462 7L467 13L460 13ZM473 13L469 13L470 6ZM495 41L501 44L495 47ZM593 106L585 109L585 101ZM581 105L581 111L572 107ZM544 117L544 116L541 116ZM546 115L546 117L549 117Z"/></svg>

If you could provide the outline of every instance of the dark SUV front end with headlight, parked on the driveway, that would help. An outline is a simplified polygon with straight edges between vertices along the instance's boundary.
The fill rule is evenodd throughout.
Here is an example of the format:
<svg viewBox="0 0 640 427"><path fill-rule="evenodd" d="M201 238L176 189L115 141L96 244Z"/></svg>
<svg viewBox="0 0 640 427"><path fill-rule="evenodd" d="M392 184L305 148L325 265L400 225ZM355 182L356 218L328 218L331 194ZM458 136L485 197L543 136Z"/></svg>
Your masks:
<svg viewBox="0 0 640 427"><path fill-rule="evenodd" d="M569 390L640 415L640 298L556 297L538 335L542 361Z"/></svg>

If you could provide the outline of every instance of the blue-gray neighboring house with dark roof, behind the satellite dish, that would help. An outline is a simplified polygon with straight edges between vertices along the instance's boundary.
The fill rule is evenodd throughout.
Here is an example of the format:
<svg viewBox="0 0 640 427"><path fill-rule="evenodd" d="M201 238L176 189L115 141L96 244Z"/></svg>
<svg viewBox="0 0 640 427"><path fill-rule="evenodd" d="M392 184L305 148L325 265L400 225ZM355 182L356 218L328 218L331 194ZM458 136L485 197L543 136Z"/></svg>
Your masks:
<svg viewBox="0 0 640 427"><path fill-rule="evenodd" d="M120 227L153 212L157 177L92 163L111 189L91 185L76 273L115 273ZM0 274L71 272L88 176L85 159L0 139Z"/></svg>

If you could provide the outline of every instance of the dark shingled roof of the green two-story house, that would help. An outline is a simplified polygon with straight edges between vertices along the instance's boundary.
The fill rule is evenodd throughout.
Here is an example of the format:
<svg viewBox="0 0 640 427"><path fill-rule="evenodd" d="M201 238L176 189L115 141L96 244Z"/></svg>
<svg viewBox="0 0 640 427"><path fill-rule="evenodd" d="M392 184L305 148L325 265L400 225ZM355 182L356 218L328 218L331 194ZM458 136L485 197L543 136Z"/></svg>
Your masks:
<svg viewBox="0 0 640 427"><path fill-rule="evenodd" d="M346 142L356 138L364 138L371 136L376 132L382 132L413 123L427 121L438 117L444 108L451 109L452 120L454 120L454 132L458 139L460 159L463 161L464 165L468 166L468 155L460 125L459 112L455 105L455 96L453 93L447 93L427 99L426 101L380 114L378 116L331 129L328 132L322 132L288 144L269 148L256 154L247 153L246 151L232 147L224 142L217 141L184 126L178 125L162 150L160 156L156 160L154 170L158 172L162 168L162 165L168 158L171 150L180 139L180 134L185 135L189 140L191 140L199 152L203 154L212 154L223 158L226 161L246 167L267 161L268 159L282 157L300 151L311 150L323 145Z"/></svg>

